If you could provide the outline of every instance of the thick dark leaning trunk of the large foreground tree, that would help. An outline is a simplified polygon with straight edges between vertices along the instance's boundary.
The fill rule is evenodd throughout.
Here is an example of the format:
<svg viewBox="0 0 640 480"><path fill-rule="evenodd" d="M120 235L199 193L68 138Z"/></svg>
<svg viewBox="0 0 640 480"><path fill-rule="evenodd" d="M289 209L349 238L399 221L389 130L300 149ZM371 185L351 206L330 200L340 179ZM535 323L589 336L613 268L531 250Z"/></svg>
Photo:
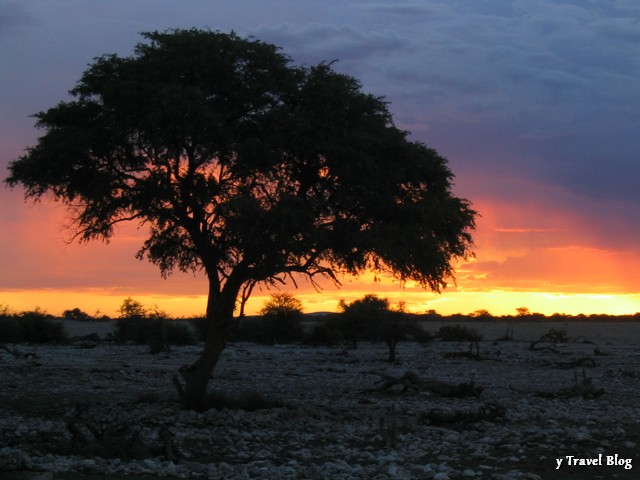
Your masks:
<svg viewBox="0 0 640 480"><path fill-rule="evenodd" d="M233 320L236 296L233 292L218 293L210 285L207 302L207 329L204 350L196 363L182 374L186 385L181 393L182 406L189 410L206 410L207 385L220 354L227 345Z"/></svg>

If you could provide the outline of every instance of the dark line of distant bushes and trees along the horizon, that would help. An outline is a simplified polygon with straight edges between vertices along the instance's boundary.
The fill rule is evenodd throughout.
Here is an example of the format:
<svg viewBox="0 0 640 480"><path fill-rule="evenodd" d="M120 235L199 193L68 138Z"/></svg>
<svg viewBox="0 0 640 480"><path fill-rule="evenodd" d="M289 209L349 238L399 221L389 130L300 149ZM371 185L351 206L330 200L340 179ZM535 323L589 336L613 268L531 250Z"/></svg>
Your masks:
<svg viewBox="0 0 640 480"><path fill-rule="evenodd" d="M472 341L473 329L461 330L456 324L479 322L638 322L640 312L630 315L544 315L531 312L527 307L516 309L513 315L495 316L487 310L469 314L441 315L435 310L422 314L408 313L403 302L391 305L386 298L368 294L348 303L341 300L339 312L304 314L300 300L288 292L271 295L258 315L236 318L229 335L230 342L262 344L293 343L301 345L343 345L357 348L359 342L384 343L388 359L396 359L396 348L401 341L428 342L442 340ZM91 315L79 308L65 310L54 316L36 308L16 312L0 305L0 344L16 343L68 343L77 339L70 336L65 321L114 321L114 332L99 341L148 345L149 351L169 351L171 345L193 345L206 338L204 318L171 318L157 307L145 307L139 301L126 298L112 318L100 312ZM443 322L431 332L430 323ZM455 328L454 328L455 327ZM467 338L468 337L468 338Z"/></svg>

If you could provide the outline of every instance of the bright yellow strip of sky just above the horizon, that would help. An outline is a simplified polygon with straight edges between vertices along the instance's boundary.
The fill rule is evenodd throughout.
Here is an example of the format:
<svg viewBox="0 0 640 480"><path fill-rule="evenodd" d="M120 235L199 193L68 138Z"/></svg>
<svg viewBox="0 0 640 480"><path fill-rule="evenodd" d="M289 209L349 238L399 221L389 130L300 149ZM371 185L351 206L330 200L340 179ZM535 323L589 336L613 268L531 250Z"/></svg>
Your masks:
<svg viewBox="0 0 640 480"><path fill-rule="evenodd" d="M284 291L284 290L283 290ZM553 315L628 315L640 312L640 294L559 294L551 292L447 292L437 295L430 292L337 290L309 292L288 290L300 299L305 313L336 312L338 302L351 302L366 293L375 293L388 298L392 305L403 301L412 313L435 310L441 315L470 314L477 310L487 310L494 316L513 315L516 308L527 307L532 313ZM246 313L257 314L269 299L272 291L254 295L247 303ZM204 314L206 296L167 295L108 295L100 292L73 292L64 290L2 292L0 305L13 311L29 311L36 307L53 315L61 315L65 310L80 308L91 314L117 316L117 309L126 296L130 296L147 307L157 307L172 317L193 317Z"/></svg>

